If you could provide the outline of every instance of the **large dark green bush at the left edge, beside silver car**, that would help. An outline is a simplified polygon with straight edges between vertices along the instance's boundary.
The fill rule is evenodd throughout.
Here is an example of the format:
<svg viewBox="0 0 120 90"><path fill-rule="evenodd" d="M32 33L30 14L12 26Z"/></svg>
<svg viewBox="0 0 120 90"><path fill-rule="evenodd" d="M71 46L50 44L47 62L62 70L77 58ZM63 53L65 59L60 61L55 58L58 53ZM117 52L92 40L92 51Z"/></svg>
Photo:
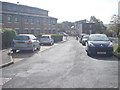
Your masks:
<svg viewBox="0 0 120 90"><path fill-rule="evenodd" d="M11 47L12 40L15 36L15 30L9 28L2 29L2 48L4 49Z"/></svg>

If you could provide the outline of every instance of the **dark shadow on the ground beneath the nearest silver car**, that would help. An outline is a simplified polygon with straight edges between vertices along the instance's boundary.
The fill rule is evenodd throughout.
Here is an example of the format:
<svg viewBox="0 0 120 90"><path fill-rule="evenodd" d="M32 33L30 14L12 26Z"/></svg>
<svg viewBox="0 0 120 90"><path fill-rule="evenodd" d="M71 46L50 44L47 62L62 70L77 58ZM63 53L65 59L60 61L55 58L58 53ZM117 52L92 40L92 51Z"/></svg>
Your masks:
<svg viewBox="0 0 120 90"><path fill-rule="evenodd" d="M12 53L12 57L13 58L28 58L28 57L32 57L34 54L38 53L39 51L36 50L34 52L32 51L18 51L15 53Z"/></svg>

